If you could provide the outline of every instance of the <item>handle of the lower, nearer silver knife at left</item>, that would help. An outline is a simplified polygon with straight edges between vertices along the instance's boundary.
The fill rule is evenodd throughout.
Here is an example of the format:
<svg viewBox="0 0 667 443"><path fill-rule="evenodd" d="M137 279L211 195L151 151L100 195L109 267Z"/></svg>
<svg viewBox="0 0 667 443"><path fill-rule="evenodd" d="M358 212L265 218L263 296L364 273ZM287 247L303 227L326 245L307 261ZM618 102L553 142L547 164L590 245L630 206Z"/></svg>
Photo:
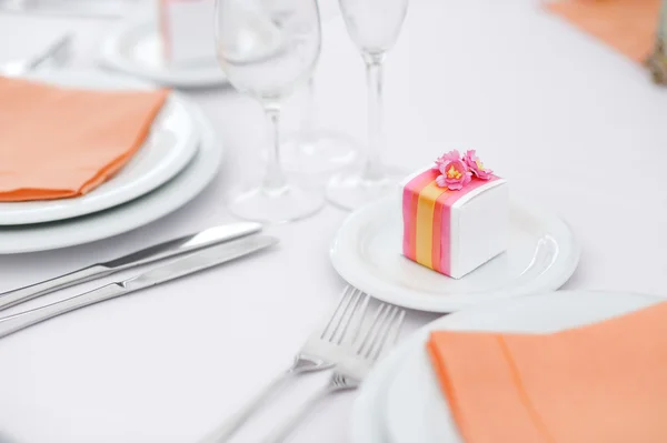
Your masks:
<svg viewBox="0 0 667 443"><path fill-rule="evenodd" d="M43 322L44 320L62 315L67 312L74 311L90 304L125 295L129 292L132 291L126 289L122 284L111 283L92 291L84 292L81 295L76 295L56 303L47 304L46 306L36 308L30 311L1 318L0 339L24 328Z"/></svg>

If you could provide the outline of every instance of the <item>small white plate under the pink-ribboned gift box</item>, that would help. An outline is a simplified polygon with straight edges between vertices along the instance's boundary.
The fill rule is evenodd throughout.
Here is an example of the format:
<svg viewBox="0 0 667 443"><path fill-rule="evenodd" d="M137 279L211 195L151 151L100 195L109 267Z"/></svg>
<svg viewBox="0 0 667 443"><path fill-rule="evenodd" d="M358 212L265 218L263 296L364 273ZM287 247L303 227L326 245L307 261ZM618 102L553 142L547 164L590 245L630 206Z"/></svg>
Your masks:
<svg viewBox="0 0 667 443"><path fill-rule="evenodd" d="M372 296L431 312L556 290L579 262L579 245L563 220L519 203L511 204L507 252L460 280L406 259L401 241L398 199L382 199L348 217L331 246L331 262Z"/></svg>

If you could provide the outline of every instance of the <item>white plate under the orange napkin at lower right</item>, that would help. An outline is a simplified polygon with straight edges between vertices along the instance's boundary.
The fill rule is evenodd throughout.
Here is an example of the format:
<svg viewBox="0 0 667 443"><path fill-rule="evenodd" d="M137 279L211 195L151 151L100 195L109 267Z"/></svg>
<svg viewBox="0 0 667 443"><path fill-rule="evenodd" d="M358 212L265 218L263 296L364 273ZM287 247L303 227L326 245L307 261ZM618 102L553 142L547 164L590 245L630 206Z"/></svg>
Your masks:
<svg viewBox="0 0 667 443"><path fill-rule="evenodd" d="M354 443L462 443L426 354L436 330L546 333L595 323L666 299L558 291L444 316L412 334L369 374L352 410Z"/></svg>

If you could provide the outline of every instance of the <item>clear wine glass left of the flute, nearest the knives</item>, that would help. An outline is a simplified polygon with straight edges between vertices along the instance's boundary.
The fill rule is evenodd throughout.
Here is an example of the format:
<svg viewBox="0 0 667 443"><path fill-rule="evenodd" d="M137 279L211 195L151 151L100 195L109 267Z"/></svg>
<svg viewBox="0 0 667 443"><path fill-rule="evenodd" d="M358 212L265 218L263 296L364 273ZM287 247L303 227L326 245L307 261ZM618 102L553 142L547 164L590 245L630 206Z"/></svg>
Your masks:
<svg viewBox="0 0 667 443"><path fill-rule="evenodd" d="M235 192L231 212L271 223L313 214L323 207L323 195L288 182L280 164L279 120L282 100L310 78L319 57L316 0L217 0L216 48L229 82L261 103L272 129L265 178Z"/></svg>

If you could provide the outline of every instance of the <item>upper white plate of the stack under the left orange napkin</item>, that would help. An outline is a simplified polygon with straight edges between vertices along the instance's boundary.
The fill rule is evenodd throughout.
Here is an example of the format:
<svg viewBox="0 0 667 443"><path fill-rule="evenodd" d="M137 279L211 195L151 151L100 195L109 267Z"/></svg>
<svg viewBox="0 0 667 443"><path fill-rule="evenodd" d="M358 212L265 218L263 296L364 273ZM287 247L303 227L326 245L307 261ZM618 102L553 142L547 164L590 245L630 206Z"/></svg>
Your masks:
<svg viewBox="0 0 667 443"><path fill-rule="evenodd" d="M150 85L140 81L96 71L51 71L34 73L28 78L87 89L150 89ZM172 92L156 118L143 145L116 177L78 198L0 202L0 225L71 219L126 203L172 179L192 160L198 145L198 123L183 99Z"/></svg>

